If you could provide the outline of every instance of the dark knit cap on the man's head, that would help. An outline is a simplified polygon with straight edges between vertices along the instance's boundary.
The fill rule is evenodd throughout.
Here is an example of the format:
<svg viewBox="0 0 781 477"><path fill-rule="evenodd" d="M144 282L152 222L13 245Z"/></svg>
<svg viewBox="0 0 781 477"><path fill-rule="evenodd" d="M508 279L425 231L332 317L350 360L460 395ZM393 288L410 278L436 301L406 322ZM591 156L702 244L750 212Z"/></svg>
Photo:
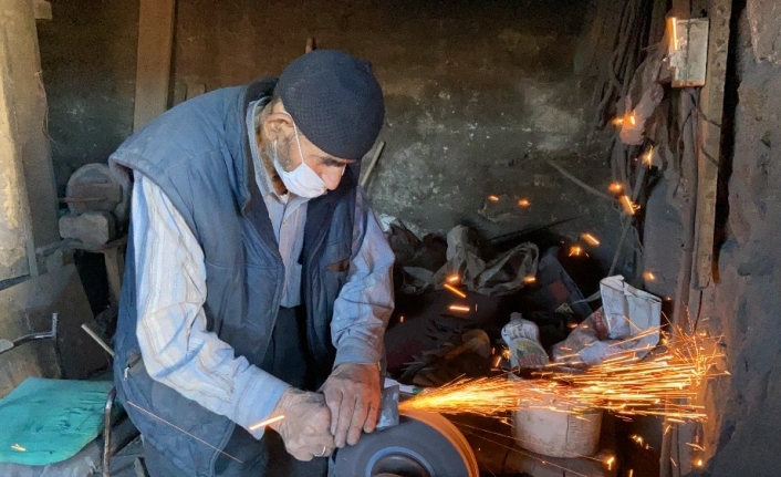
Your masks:
<svg viewBox="0 0 781 477"><path fill-rule="evenodd" d="M301 133L339 158L361 159L383 127L385 101L372 65L343 51L298 58L274 92Z"/></svg>

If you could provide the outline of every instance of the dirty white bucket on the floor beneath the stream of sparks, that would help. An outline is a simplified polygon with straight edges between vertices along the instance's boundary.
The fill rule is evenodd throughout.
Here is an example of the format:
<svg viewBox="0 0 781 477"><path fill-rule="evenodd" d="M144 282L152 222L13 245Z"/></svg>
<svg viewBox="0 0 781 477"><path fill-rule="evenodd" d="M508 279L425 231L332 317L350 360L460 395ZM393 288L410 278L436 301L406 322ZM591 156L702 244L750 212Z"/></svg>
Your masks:
<svg viewBox="0 0 781 477"><path fill-rule="evenodd" d="M567 414L549 409L514 413L518 444L549 457L591 457L596 454L602 409Z"/></svg>

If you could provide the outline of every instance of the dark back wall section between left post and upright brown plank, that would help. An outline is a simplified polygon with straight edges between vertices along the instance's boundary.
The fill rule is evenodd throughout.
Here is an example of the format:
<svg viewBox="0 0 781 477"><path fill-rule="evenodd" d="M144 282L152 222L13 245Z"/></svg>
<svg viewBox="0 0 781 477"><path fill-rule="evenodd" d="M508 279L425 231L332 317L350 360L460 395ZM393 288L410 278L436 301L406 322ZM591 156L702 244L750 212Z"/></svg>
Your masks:
<svg viewBox="0 0 781 477"><path fill-rule="evenodd" d="M133 132L138 1L54 0L38 21L49 135L60 195Z"/></svg>

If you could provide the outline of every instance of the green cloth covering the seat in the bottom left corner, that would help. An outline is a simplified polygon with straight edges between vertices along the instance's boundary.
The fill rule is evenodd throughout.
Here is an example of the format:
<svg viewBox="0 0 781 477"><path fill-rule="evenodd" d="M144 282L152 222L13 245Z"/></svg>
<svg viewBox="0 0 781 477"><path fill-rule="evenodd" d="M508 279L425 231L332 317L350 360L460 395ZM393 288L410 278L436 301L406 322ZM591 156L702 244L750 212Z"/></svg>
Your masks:
<svg viewBox="0 0 781 477"><path fill-rule="evenodd" d="M42 466L73 457L103 429L111 381L28 377L0 400L0 463Z"/></svg>

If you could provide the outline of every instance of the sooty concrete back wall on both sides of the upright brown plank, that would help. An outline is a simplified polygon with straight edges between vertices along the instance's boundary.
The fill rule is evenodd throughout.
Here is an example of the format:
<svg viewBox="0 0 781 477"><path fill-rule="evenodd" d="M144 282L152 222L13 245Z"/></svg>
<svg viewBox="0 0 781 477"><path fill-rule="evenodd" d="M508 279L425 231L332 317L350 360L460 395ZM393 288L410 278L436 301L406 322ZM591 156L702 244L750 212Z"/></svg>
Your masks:
<svg viewBox="0 0 781 477"><path fill-rule="evenodd" d="M377 211L421 232L470 224L496 236L574 219L560 231L611 236L607 204L546 163L600 189L610 183L603 149L584 145L590 92L572 72L586 3L179 0L171 96L185 84L278 75L315 37L369 59L386 92L387 147L368 187ZM132 124L137 1L87 4L54 0L54 20L41 25L61 188ZM491 194L500 203L487 203Z"/></svg>

